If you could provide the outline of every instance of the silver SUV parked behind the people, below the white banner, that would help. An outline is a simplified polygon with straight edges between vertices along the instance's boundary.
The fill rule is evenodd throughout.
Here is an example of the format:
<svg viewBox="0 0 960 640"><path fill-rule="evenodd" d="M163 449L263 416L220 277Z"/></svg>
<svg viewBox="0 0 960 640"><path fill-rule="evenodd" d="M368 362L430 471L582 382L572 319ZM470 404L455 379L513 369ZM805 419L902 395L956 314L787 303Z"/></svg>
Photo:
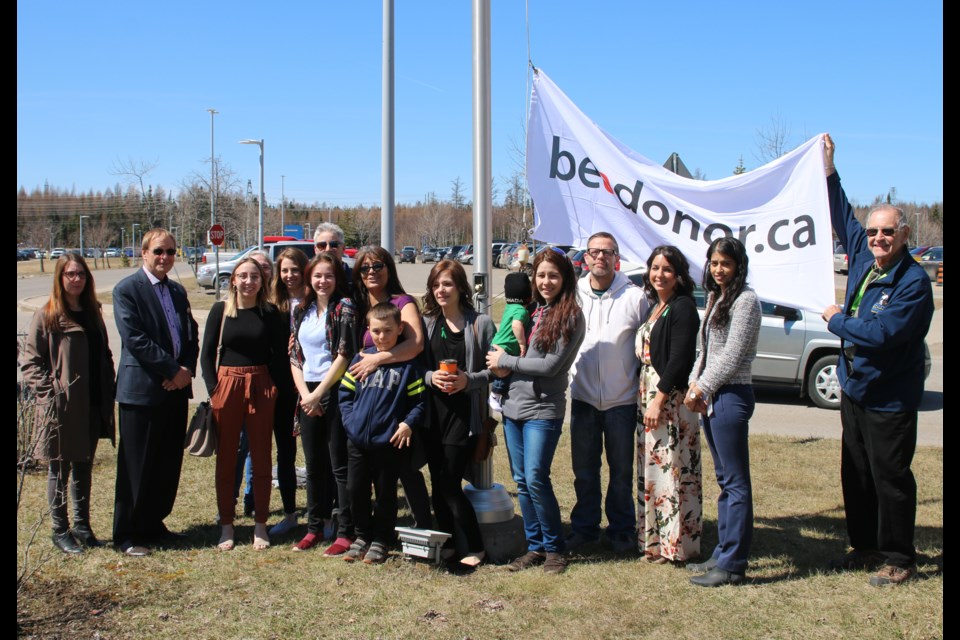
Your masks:
<svg viewBox="0 0 960 640"><path fill-rule="evenodd" d="M624 269L624 273L643 286L638 270ZM702 320L706 296L699 286L694 297ZM840 338L827 330L819 314L769 302L760 306L763 318L753 361L754 384L795 387L818 407L839 409Z"/></svg>

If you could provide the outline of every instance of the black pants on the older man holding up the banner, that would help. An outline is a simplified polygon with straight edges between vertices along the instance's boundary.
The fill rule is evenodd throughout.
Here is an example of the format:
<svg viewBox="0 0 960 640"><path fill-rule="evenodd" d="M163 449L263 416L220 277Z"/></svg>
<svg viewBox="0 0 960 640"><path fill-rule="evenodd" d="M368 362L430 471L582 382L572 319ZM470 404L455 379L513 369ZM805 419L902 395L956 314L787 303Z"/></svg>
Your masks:
<svg viewBox="0 0 960 640"><path fill-rule="evenodd" d="M850 545L879 550L888 564L908 567L917 556L917 483L910 470L917 412L871 411L843 396L840 420L840 478Z"/></svg>

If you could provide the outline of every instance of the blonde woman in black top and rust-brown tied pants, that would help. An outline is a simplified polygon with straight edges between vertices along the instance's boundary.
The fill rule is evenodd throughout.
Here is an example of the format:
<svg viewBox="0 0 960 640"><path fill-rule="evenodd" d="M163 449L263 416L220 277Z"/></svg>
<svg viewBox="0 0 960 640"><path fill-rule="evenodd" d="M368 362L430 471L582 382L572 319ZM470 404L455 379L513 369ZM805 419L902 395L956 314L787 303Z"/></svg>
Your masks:
<svg viewBox="0 0 960 640"><path fill-rule="evenodd" d="M286 363L289 335L287 318L267 302L263 269L252 258L239 263L230 274L226 301L210 309L200 350L203 380L219 435L216 487L221 533L217 547L221 551L234 547L234 472L244 425L253 461L253 548L270 546L267 515L277 387L269 368Z"/></svg>

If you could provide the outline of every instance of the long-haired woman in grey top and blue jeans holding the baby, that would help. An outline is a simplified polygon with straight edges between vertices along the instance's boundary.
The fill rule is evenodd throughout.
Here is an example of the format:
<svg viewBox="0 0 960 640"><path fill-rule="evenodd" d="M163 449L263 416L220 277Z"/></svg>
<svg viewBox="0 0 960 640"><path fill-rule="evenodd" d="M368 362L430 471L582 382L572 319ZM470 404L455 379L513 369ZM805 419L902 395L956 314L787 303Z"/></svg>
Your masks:
<svg viewBox="0 0 960 640"><path fill-rule="evenodd" d="M545 573L567 567L560 505L550 482L567 405L567 372L583 342L585 322L577 301L577 278L566 255L547 249L533 261L533 330L527 352L511 356L500 349L487 366L501 377L512 373L503 402L503 432L517 483L527 553L508 566L520 571L543 564Z"/></svg>

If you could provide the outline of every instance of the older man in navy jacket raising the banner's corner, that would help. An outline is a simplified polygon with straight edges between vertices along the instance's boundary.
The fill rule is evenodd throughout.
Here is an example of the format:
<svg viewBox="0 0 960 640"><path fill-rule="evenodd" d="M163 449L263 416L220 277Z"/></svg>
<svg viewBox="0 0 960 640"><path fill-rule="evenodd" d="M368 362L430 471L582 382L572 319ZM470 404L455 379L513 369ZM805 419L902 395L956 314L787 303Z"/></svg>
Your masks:
<svg viewBox="0 0 960 640"><path fill-rule="evenodd" d="M833 155L833 140L825 135L830 217L849 256L845 307L832 305L823 312L830 331L843 341L837 369L843 388L840 478L853 547L835 566L882 565L870 584L897 585L917 573L917 485L910 463L933 292L907 251L910 227L903 211L880 205L861 227L840 186Z"/></svg>

